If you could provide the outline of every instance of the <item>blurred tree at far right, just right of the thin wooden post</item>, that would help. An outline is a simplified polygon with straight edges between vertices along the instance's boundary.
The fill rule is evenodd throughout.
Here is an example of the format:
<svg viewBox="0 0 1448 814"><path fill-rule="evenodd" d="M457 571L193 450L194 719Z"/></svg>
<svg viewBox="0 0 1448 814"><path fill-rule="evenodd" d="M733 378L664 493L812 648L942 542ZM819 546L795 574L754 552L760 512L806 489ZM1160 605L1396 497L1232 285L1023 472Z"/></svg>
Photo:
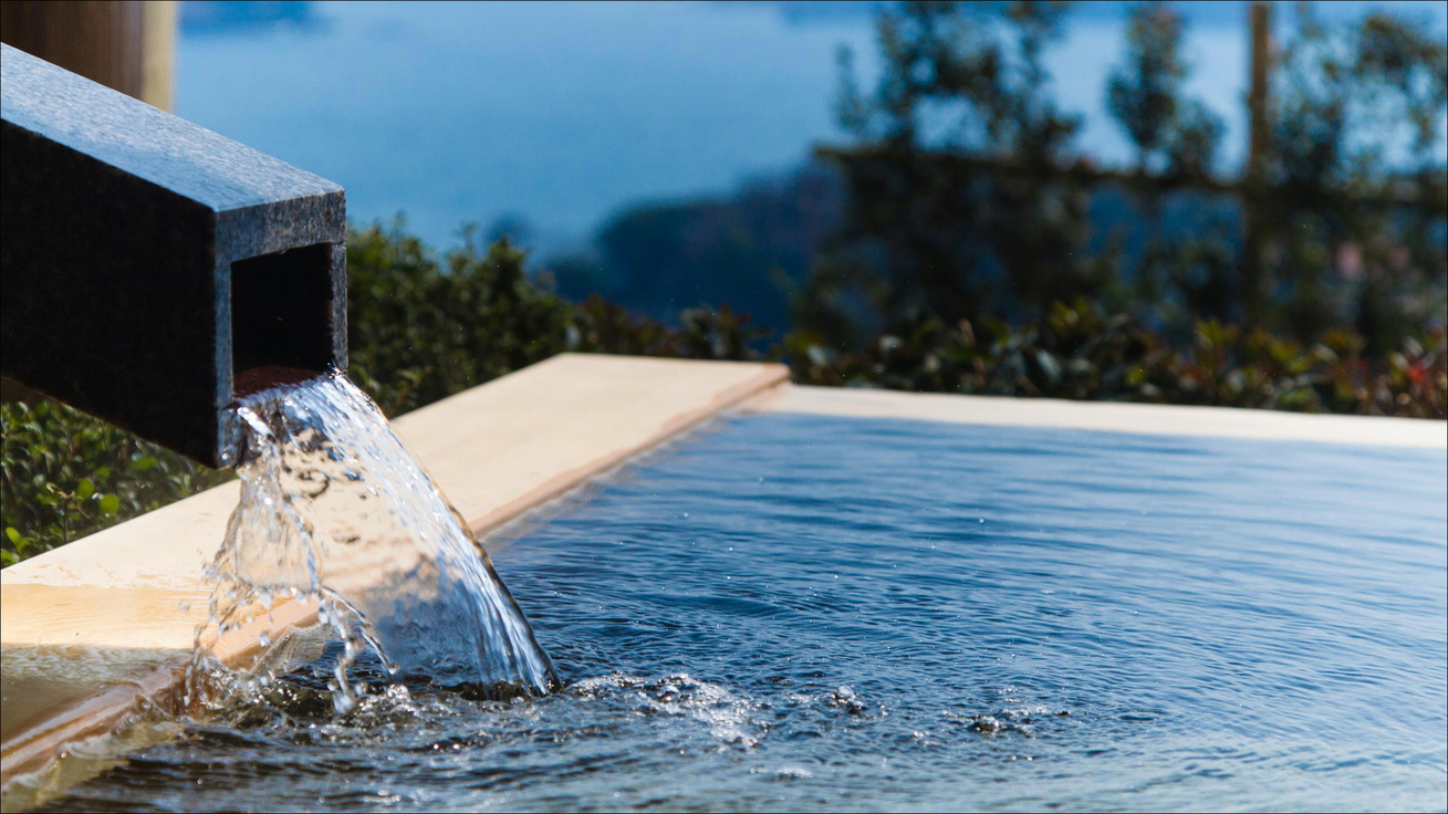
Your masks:
<svg viewBox="0 0 1448 814"><path fill-rule="evenodd" d="M1448 45L1387 13L1338 28L1299 14L1264 177L1245 187L1266 235L1244 310L1299 336L1350 324L1387 351L1445 320Z"/></svg>

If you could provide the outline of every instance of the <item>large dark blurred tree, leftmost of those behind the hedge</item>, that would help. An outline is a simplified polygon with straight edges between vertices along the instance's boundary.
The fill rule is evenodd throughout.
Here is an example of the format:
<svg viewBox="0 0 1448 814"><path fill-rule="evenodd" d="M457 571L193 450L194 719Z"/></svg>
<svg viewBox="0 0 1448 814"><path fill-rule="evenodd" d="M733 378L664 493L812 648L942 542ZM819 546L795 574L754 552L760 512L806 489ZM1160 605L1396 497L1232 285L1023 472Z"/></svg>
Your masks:
<svg viewBox="0 0 1448 814"><path fill-rule="evenodd" d="M796 309L807 330L954 322L983 309L1044 314L1112 277L1087 258L1079 119L1050 94L1044 51L1064 3L911 1L883 12L883 71L862 93L841 55L840 122L824 149L844 177L844 223Z"/></svg>

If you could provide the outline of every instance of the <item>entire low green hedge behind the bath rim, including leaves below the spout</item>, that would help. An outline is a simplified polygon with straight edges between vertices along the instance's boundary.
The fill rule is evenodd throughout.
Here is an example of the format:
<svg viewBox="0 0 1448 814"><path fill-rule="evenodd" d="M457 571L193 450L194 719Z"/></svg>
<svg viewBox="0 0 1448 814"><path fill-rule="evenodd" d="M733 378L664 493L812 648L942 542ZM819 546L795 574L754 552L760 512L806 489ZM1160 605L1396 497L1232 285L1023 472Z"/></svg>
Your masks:
<svg viewBox="0 0 1448 814"><path fill-rule="evenodd" d="M1200 323L1173 348L1125 316L1079 301L1040 324L925 320L841 353L808 335L769 353L728 307L689 309L678 326L592 297L571 303L524 274L524 253L481 249L465 233L442 256L400 225L353 232L348 248L350 374L390 416L562 351L699 359L776 358L804 384L1218 404L1273 410L1445 417L1438 330L1384 358L1331 333L1303 345ZM0 406L0 561L10 565L230 477L62 404Z"/></svg>

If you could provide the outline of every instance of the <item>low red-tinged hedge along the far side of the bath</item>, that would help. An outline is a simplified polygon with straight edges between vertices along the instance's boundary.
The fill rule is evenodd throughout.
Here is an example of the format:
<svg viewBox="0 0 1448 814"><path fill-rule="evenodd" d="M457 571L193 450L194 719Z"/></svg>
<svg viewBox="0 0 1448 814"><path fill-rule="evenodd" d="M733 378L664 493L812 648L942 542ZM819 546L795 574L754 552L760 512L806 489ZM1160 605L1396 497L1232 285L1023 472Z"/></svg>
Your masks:
<svg viewBox="0 0 1448 814"><path fill-rule="evenodd" d="M1448 332L1386 358L1364 346L1345 330L1302 343L1209 320L1177 349L1082 298L1015 327L925 317L850 352L795 333L785 358L799 384L1448 419Z"/></svg>

